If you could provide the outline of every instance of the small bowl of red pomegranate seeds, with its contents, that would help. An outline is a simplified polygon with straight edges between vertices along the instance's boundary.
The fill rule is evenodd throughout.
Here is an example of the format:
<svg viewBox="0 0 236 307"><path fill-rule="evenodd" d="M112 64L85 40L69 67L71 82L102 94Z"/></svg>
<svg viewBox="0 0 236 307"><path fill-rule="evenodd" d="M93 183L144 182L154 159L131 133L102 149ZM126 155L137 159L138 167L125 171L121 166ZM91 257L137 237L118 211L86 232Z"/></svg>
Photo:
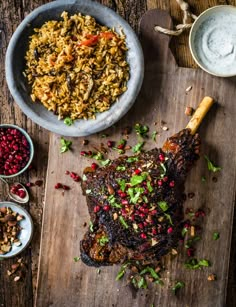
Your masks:
<svg viewBox="0 0 236 307"><path fill-rule="evenodd" d="M34 145L25 130L15 125L0 125L0 177L22 174L33 156Z"/></svg>

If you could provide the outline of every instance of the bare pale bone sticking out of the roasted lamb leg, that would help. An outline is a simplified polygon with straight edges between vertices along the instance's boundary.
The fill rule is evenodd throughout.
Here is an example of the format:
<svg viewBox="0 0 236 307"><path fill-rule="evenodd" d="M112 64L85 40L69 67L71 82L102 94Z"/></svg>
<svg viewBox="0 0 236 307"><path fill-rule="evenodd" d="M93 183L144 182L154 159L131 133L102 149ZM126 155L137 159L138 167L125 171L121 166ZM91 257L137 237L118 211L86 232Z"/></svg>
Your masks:
<svg viewBox="0 0 236 307"><path fill-rule="evenodd" d="M196 133L199 125L201 124L203 118L205 117L205 115L207 114L213 103L214 103L213 98L209 96L204 97L203 100L200 102L198 108L193 114L193 117L190 119L186 127L191 130L191 134Z"/></svg>

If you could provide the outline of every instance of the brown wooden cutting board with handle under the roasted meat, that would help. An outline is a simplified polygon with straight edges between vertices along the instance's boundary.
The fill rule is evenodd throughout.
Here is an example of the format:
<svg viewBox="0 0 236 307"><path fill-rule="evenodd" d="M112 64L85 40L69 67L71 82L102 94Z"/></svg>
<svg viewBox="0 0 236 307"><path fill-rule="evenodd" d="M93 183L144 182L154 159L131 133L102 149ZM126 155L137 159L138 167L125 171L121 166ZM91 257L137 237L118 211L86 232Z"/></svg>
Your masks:
<svg viewBox="0 0 236 307"><path fill-rule="evenodd" d="M154 32L156 24L169 27L170 16L156 9L143 16L140 39L145 55L144 83L129 113L114 127L102 132L109 137L102 138L102 133L93 135L86 138L89 140L86 146L82 145L82 138L74 138L73 150L60 154L60 136L51 134L36 306L225 306L236 178L236 79L216 78L200 69L177 67L169 49L169 38ZM190 86L191 90L186 92ZM122 128L137 122L148 124L150 132L159 132L156 142L149 138L145 148L159 147L168 136L186 126L189 118L184 114L185 107L197 107L205 95L214 97L217 103L199 130L202 157L186 182L186 193L194 192L195 197L187 199L185 206L202 207L207 213L196 256L209 259L212 266L198 271L186 270L183 267L186 256L180 248L176 258L166 257L164 261L163 287L134 293L125 279L115 281L118 266L101 268L98 274L96 268L87 267L81 261L75 263L73 258L79 256L79 242L89 216L80 184L73 182L65 171L81 174L84 167L91 164L91 160L79 155L80 151L99 147L108 139L121 139ZM161 121L166 122L168 131L160 128ZM137 143L134 132L128 143ZM204 154L220 165L222 171L210 173ZM117 154L110 152L108 156ZM202 176L206 177L204 183ZM213 177L217 177L217 182ZM71 190L63 195L54 189L57 182L70 185ZM215 231L220 233L218 241L212 239ZM210 273L217 275L217 281L207 280ZM176 280L184 281L186 286L174 296L170 288Z"/></svg>

